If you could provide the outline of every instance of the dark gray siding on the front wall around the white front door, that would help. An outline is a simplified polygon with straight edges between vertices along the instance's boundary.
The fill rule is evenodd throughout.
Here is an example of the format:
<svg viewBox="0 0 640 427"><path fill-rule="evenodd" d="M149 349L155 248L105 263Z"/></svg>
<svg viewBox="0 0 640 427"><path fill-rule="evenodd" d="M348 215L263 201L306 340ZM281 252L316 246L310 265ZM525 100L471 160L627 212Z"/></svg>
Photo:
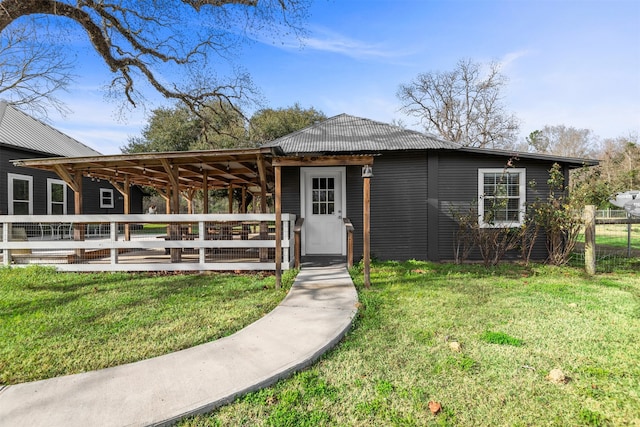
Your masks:
<svg viewBox="0 0 640 427"><path fill-rule="evenodd" d="M381 260L446 261L454 259L455 211L475 206L478 169L504 168L509 159L498 155L450 150L383 153L376 156L371 178L371 256ZM547 197L552 162L515 161L526 169L527 203ZM300 215L300 169L284 167L282 211ZM360 167L347 167L347 211L354 225L354 259L362 259L363 178ZM517 258L519 251L509 254ZM541 235L532 259L547 257ZM477 252L471 259L480 259Z"/></svg>

